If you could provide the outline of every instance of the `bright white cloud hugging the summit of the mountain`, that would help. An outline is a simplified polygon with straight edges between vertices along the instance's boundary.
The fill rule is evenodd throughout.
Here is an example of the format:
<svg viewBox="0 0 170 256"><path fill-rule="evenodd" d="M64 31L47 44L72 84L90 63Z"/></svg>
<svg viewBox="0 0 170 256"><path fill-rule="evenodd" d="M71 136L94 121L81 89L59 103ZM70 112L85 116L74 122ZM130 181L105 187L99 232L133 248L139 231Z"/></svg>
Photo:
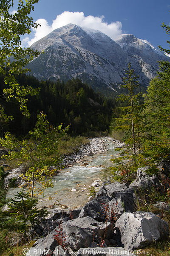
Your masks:
<svg viewBox="0 0 170 256"><path fill-rule="evenodd" d="M122 23L120 21L108 24L104 21L104 18L104 16L94 17L92 15L85 17L83 12L62 12L62 14L57 15L56 19L53 20L51 25L49 25L45 19L38 19L36 22L40 23L41 26L39 26L37 29L34 29L34 38L28 41L28 46L40 40L45 35L48 35L54 29L65 26L68 23L73 23L81 27L100 30L101 32L110 36L112 39L116 38L117 35L122 34Z"/></svg>

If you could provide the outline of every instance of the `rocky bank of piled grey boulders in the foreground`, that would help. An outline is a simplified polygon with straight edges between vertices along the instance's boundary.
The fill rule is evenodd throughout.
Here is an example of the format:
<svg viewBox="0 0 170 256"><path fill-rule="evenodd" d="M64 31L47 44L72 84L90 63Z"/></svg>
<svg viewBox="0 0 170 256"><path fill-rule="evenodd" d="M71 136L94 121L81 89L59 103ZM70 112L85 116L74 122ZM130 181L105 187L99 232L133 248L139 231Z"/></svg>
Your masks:
<svg viewBox="0 0 170 256"><path fill-rule="evenodd" d="M68 256L99 255L100 252L119 256L151 255L145 246L154 246L157 240L164 242L169 235L166 211L170 204L156 201L152 192L153 187L157 193L166 192L162 177L168 177L162 175L160 172L158 177L149 176L147 167L138 168L136 180L129 186L119 182L103 183L94 199L80 209L54 209L32 230L38 237L27 256L34 256L34 251L42 256L49 255L48 251L57 253L57 250L62 255L63 249ZM149 208L142 209L138 204L144 196L140 189L144 189L143 193L147 191L156 202L152 208L154 213L150 211L150 197L144 201ZM60 234L64 238L62 243L58 240Z"/></svg>

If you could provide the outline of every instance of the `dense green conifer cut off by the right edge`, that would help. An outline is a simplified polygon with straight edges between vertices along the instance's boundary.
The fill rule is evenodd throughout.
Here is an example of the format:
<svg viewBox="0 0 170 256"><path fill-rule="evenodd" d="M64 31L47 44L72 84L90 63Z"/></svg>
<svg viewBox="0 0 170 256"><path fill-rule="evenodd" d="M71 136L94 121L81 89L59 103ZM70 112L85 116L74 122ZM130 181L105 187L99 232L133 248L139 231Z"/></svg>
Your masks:
<svg viewBox="0 0 170 256"><path fill-rule="evenodd" d="M163 23L162 27L170 35L170 26ZM170 54L170 49L159 48ZM170 162L170 61L159 61L158 74L150 81L144 103L147 136L142 141L143 159L156 166L163 160Z"/></svg>

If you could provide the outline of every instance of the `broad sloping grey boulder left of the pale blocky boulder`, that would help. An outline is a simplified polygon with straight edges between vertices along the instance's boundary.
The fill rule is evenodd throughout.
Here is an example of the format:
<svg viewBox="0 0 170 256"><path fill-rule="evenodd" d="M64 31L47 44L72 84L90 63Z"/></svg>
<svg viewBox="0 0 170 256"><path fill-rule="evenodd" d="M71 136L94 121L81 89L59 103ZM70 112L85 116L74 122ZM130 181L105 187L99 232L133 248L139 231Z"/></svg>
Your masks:
<svg viewBox="0 0 170 256"><path fill-rule="evenodd" d="M67 248L68 252L72 253L79 248L91 246L93 242L100 244L102 239L113 239L114 232L110 222L98 222L89 216L64 221L55 230L51 231L48 236L38 239L34 244L34 248L31 247L31 253L34 253L33 249L39 249L41 252L43 250L54 250L58 245L58 241L55 239L57 236L59 238L62 236L63 248ZM104 246L107 247L106 244Z"/></svg>

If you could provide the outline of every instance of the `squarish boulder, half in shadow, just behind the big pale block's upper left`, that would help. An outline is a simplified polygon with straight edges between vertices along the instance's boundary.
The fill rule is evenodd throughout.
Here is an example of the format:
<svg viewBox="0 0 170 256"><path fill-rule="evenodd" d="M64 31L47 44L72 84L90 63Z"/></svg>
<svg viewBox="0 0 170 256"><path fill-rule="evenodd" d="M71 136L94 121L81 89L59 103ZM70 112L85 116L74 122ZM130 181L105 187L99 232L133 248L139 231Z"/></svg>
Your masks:
<svg viewBox="0 0 170 256"><path fill-rule="evenodd" d="M132 193L117 192L109 202L109 218L119 218L124 212L134 212L134 199Z"/></svg>

